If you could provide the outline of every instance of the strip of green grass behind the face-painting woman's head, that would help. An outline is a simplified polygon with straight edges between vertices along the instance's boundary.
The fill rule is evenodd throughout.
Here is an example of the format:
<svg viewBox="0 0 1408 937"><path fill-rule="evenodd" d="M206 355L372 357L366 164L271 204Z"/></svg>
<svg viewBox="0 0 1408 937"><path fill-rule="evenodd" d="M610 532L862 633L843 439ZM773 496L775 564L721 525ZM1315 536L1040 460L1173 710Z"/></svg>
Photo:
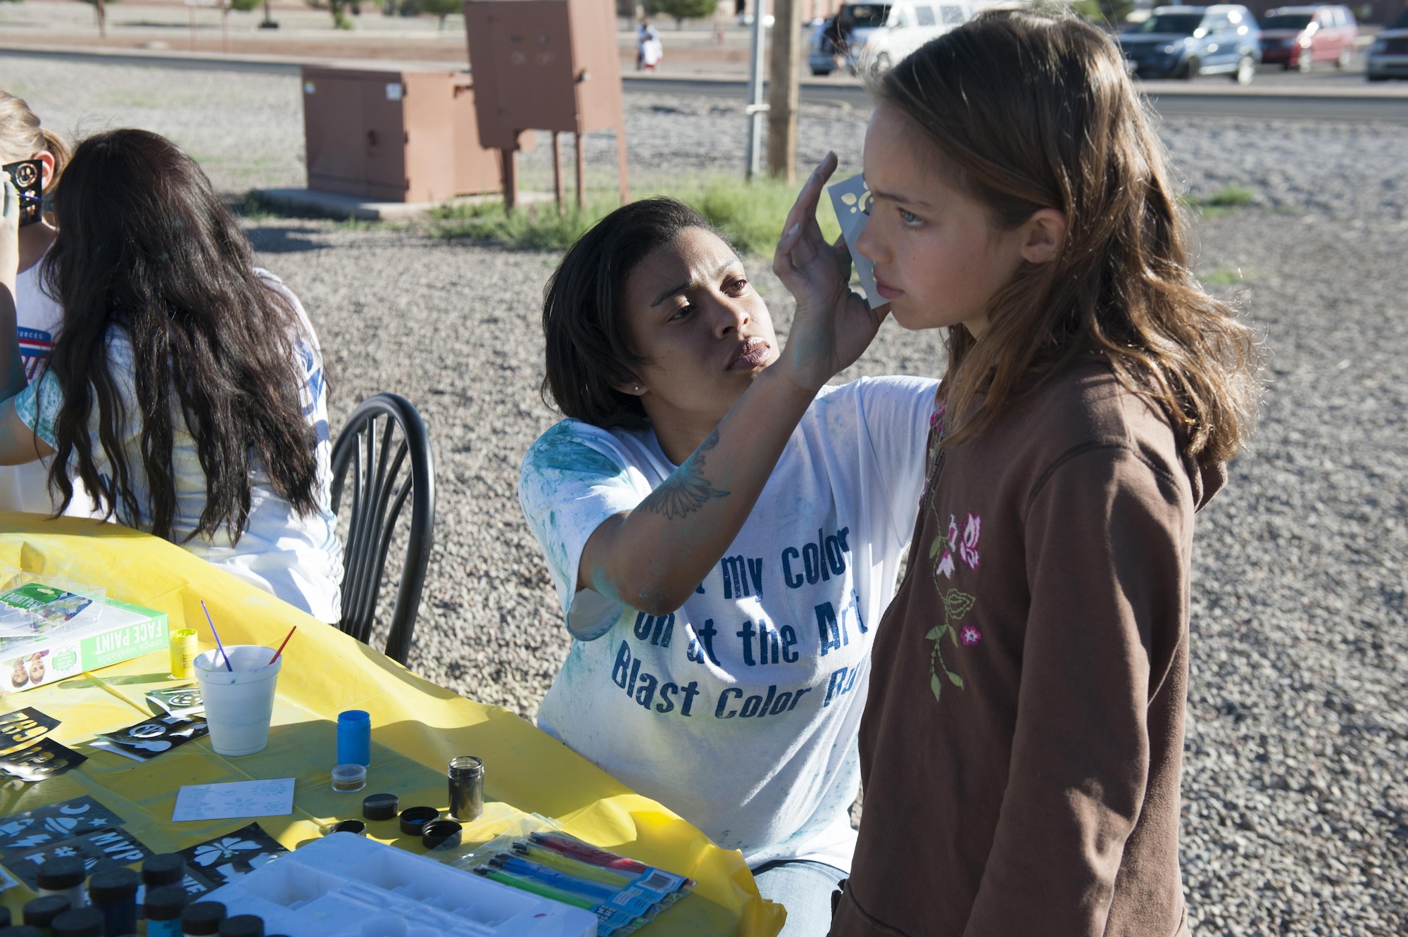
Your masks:
<svg viewBox="0 0 1408 937"><path fill-rule="evenodd" d="M742 253L769 255L781 236L783 221L797 198L797 189L777 181L745 183L714 177L687 186L656 186L635 193L636 198L669 196L697 210ZM525 205L505 212L503 203L445 205L431 212L428 227L441 238L493 241L524 250L566 250L582 234L617 207L607 196L587 207L569 207L562 215L553 203ZM822 234L834 241L841 232L831 198L822 196L817 212Z"/></svg>

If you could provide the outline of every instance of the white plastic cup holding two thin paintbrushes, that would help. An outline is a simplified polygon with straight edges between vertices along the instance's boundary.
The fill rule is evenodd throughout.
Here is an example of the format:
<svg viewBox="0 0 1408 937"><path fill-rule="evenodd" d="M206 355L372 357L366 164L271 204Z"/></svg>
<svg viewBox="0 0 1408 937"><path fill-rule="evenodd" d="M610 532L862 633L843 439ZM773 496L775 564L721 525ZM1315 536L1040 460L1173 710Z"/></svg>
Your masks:
<svg viewBox="0 0 1408 937"><path fill-rule="evenodd" d="M283 657L270 664L275 651L262 644L225 644L225 651L234 671L225 670L225 657L218 650L199 654L194 661L210 744L222 756L263 751Z"/></svg>

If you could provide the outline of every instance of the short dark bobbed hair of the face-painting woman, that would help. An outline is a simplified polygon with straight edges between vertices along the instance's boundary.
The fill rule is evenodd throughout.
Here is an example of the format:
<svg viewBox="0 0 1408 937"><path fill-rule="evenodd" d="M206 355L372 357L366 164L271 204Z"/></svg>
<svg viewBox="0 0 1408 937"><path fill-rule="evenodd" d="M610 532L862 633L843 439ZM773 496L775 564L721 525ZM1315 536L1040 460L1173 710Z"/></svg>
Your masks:
<svg viewBox="0 0 1408 937"><path fill-rule="evenodd" d="M643 198L598 221L563 255L543 288L543 402L593 426L650 425L641 398L615 390L638 381L646 363L627 340L625 281L686 228L714 231L684 203Z"/></svg>

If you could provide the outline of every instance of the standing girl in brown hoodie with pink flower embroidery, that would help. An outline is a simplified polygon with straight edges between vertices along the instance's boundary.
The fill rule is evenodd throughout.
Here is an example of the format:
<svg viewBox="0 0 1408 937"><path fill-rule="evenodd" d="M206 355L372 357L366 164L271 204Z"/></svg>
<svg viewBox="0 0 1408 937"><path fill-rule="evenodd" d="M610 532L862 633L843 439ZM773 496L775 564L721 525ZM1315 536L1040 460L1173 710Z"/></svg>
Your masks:
<svg viewBox="0 0 1408 937"><path fill-rule="evenodd" d="M1253 342L1100 31L984 13L876 97L856 246L949 362L832 934L1184 934L1193 515L1249 432ZM848 290L817 190L774 266L803 308Z"/></svg>

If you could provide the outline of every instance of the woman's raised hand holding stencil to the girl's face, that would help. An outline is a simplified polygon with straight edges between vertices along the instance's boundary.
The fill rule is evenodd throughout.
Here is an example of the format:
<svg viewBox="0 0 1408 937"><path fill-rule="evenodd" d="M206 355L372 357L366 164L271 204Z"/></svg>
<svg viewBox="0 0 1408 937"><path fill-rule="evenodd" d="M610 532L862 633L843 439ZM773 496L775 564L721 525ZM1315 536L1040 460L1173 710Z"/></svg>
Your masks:
<svg viewBox="0 0 1408 937"><path fill-rule="evenodd" d="M850 252L845 238L826 243L821 236L817 203L835 170L836 155L826 153L787 212L773 253L773 273L797 300L787 348L777 364L787 369L798 387L812 391L860 357L890 314L888 305L872 310L850 291Z"/></svg>

